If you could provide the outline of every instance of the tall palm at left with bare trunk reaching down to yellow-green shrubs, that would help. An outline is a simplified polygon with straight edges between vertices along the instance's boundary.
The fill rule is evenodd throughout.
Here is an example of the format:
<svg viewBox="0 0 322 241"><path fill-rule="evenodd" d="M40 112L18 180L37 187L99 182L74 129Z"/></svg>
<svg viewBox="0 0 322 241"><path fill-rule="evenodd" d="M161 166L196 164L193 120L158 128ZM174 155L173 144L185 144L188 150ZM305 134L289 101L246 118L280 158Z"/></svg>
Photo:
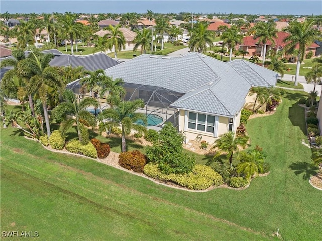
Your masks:
<svg viewBox="0 0 322 241"><path fill-rule="evenodd" d="M44 118L46 123L47 135L51 134L50 122L47 108L48 88L57 88L59 91L65 87L61 76L64 70L61 67L49 66L54 58L53 54L43 54L38 49L33 49L23 64L22 69L27 76L32 76L27 85L30 93L37 92L42 102Z"/></svg>

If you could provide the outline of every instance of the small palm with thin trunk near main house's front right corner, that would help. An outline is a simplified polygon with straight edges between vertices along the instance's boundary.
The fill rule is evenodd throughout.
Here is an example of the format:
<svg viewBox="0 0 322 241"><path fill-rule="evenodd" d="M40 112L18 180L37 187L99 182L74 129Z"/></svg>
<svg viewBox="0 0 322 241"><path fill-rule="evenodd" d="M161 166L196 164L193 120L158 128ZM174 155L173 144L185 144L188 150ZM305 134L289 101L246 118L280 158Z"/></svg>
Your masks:
<svg viewBox="0 0 322 241"><path fill-rule="evenodd" d="M215 141L214 148L219 148L220 150L227 152L227 157L229 158L229 163L232 168L233 153L239 152L239 146L245 148L248 139L248 136L235 136L234 132L229 131L222 134L219 139Z"/></svg>

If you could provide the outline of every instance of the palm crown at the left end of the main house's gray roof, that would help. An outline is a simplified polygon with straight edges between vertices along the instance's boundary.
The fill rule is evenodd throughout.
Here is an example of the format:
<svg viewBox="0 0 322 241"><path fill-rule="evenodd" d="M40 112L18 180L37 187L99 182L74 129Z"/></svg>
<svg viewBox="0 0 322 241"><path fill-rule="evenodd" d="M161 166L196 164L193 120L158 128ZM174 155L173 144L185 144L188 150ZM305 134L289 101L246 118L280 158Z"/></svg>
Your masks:
<svg viewBox="0 0 322 241"><path fill-rule="evenodd" d="M85 93L86 90L89 90L91 92L92 97L94 98L94 88L99 85L99 83L106 78L104 70L103 69L97 69L95 71L88 71L85 70L83 72L85 76L81 79L81 92Z"/></svg>

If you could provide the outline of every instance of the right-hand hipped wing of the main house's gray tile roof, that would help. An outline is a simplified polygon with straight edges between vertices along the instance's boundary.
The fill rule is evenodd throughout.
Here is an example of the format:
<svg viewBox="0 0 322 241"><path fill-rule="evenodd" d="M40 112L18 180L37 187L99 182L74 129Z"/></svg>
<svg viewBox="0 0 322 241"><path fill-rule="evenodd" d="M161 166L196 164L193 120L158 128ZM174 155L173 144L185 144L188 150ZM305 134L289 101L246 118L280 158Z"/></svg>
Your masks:
<svg viewBox="0 0 322 241"><path fill-rule="evenodd" d="M275 86L278 73L249 61L235 59L228 64L237 70L253 86Z"/></svg>

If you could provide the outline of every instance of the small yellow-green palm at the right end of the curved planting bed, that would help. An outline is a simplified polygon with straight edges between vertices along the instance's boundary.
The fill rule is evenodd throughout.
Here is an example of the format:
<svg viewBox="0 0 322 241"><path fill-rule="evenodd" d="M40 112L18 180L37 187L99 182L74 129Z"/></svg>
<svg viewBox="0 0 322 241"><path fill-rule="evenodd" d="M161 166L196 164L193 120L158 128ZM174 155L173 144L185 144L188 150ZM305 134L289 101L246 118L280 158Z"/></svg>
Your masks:
<svg viewBox="0 0 322 241"><path fill-rule="evenodd" d="M236 170L238 173L243 173L246 178L263 171L264 160L262 153L259 151L241 152L238 160L240 160L240 163L237 165Z"/></svg>

